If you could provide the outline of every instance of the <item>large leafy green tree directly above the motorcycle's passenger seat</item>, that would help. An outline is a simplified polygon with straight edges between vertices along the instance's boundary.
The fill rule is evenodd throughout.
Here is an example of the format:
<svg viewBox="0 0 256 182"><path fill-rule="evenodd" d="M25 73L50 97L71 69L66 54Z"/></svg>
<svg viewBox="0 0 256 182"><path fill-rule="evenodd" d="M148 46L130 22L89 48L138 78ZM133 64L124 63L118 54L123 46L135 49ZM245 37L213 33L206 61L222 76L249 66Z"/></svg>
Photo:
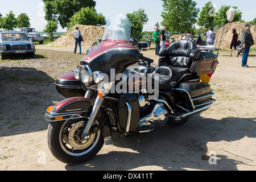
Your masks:
<svg viewBox="0 0 256 182"><path fill-rule="evenodd" d="M200 9L192 0L161 0L163 1L162 25L166 25L171 32L184 32L192 29L196 23Z"/></svg>

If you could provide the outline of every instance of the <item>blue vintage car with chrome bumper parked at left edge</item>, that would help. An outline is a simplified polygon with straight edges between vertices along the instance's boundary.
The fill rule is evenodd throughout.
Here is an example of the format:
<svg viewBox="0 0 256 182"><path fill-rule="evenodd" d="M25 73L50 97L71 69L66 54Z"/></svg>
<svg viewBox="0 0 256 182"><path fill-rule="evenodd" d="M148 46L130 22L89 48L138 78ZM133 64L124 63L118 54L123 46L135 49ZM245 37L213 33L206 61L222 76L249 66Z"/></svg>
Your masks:
<svg viewBox="0 0 256 182"><path fill-rule="evenodd" d="M0 33L0 58L7 55L28 54L35 57L35 44L28 40L26 34L21 32Z"/></svg>

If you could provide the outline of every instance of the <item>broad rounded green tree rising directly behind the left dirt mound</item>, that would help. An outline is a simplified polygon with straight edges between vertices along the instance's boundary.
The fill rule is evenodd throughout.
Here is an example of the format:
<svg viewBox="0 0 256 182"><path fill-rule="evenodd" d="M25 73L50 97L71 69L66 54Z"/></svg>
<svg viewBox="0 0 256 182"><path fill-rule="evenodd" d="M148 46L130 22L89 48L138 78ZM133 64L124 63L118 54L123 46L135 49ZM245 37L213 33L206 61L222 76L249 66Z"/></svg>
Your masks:
<svg viewBox="0 0 256 182"><path fill-rule="evenodd" d="M70 19L68 27L75 24L86 24L94 26L102 26L106 24L106 18L101 13L98 14L93 7L82 7L82 9L75 13Z"/></svg>

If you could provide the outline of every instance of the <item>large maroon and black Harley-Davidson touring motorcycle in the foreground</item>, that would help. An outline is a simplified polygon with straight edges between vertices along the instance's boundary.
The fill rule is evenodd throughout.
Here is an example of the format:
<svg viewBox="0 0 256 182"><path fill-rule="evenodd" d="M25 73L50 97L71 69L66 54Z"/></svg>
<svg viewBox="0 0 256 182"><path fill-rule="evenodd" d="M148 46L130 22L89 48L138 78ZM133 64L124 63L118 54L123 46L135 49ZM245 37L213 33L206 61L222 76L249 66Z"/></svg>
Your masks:
<svg viewBox="0 0 256 182"><path fill-rule="evenodd" d="M49 106L44 117L48 146L61 162L91 158L104 143L112 144L113 132L128 136L181 126L215 101L210 85L200 81L215 71L215 54L179 40L159 53L156 67L129 45L130 30L127 16L110 16L102 42L56 79L66 99Z"/></svg>

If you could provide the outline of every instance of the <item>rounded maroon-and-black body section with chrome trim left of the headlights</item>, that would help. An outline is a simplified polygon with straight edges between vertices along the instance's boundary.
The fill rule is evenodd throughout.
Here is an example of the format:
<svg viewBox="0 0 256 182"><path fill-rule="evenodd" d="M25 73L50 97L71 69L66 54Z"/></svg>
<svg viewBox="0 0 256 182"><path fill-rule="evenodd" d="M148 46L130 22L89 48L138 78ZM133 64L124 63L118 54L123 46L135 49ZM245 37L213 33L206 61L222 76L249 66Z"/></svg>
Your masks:
<svg viewBox="0 0 256 182"><path fill-rule="evenodd" d="M54 84L57 92L66 98L85 96L85 86L80 80L76 80L73 72L60 76Z"/></svg>

